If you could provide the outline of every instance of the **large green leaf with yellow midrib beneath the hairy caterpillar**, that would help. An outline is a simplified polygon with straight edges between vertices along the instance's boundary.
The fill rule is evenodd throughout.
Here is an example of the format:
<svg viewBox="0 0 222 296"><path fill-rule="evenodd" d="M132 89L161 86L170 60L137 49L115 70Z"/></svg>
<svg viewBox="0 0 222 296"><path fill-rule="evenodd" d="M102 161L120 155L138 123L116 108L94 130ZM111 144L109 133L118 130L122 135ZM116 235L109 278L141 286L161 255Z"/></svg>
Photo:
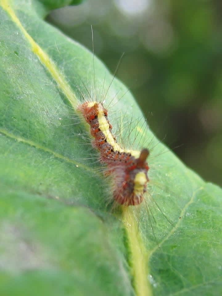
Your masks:
<svg viewBox="0 0 222 296"><path fill-rule="evenodd" d="M127 88L43 21L65 3L49 2L0 0L0 294L221 295L221 189L137 124ZM113 210L75 111L106 92L114 130L135 122L122 138L151 150L140 207Z"/></svg>

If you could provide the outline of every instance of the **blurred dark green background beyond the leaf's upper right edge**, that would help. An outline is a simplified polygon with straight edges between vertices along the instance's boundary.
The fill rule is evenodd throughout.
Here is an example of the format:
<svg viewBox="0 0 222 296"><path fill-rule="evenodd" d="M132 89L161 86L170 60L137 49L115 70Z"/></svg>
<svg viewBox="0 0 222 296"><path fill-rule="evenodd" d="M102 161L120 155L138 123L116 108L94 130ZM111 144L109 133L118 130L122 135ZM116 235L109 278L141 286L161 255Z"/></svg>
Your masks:
<svg viewBox="0 0 222 296"><path fill-rule="evenodd" d="M150 128L205 180L222 185L222 1L86 0L47 21L117 71Z"/></svg>

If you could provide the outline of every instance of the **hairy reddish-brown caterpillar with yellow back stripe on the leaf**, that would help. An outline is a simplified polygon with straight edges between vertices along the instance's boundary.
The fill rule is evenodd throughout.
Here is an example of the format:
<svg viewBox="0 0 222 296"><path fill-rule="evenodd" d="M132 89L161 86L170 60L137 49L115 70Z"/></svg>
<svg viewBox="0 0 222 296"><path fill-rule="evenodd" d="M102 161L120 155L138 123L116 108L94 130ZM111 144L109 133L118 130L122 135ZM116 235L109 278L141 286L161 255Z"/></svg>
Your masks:
<svg viewBox="0 0 222 296"><path fill-rule="evenodd" d="M101 103L84 102L77 108L90 125L92 145L100 152L100 161L113 178L113 198L122 205L138 205L143 201L149 170L148 149L125 150L112 134L108 112Z"/></svg>

